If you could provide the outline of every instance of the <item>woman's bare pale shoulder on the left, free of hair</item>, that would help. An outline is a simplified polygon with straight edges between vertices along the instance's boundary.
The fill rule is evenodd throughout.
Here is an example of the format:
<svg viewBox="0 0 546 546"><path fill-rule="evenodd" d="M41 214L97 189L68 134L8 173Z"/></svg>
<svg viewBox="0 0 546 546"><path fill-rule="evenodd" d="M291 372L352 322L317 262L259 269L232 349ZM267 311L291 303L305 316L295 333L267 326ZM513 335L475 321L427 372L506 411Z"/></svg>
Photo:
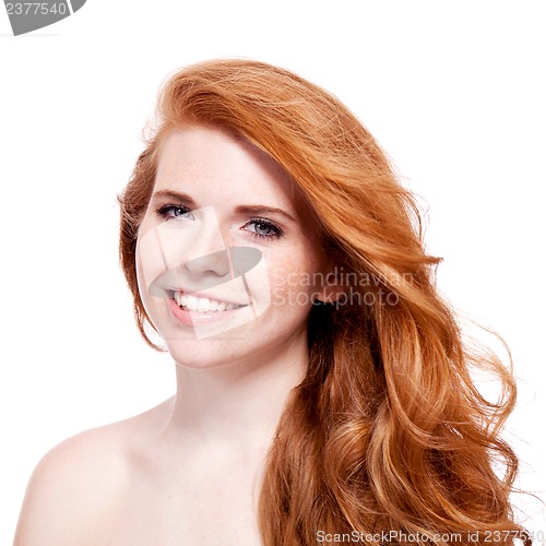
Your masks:
<svg viewBox="0 0 546 546"><path fill-rule="evenodd" d="M96 544L129 479L135 444L164 418L168 404L79 434L49 451L28 482L14 546Z"/></svg>

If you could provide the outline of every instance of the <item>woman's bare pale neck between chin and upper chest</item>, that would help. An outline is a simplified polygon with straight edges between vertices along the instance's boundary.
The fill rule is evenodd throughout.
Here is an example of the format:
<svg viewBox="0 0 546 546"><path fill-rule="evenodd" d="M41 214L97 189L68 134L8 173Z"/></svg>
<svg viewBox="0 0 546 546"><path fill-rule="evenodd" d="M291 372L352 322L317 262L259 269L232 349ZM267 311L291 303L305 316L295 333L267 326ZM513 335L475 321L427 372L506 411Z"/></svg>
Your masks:
<svg viewBox="0 0 546 546"><path fill-rule="evenodd" d="M169 429L200 449L263 451L274 437L290 391L305 377L307 347L256 355L214 369L176 366L177 394Z"/></svg>

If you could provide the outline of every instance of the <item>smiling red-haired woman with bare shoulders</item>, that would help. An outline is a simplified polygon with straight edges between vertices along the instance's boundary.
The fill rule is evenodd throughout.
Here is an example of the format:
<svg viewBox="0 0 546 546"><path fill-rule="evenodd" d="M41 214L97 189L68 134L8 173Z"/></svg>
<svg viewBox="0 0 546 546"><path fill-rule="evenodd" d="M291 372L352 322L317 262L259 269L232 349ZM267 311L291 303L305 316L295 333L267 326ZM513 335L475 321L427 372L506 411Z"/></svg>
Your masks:
<svg viewBox="0 0 546 546"><path fill-rule="evenodd" d="M120 203L177 394L46 455L17 545L525 538L513 378L463 346L412 195L336 98L260 62L182 70Z"/></svg>

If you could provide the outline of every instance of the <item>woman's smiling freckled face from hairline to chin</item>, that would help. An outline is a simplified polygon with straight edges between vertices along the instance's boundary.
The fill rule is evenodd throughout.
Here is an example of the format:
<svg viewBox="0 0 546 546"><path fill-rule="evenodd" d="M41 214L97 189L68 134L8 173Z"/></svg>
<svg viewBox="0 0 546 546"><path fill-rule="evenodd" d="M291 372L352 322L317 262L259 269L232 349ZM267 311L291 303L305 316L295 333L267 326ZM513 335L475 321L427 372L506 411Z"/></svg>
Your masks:
<svg viewBox="0 0 546 546"><path fill-rule="evenodd" d="M139 229L144 308L174 359L212 368L307 346L323 260L288 176L219 129L171 130Z"/></svg>

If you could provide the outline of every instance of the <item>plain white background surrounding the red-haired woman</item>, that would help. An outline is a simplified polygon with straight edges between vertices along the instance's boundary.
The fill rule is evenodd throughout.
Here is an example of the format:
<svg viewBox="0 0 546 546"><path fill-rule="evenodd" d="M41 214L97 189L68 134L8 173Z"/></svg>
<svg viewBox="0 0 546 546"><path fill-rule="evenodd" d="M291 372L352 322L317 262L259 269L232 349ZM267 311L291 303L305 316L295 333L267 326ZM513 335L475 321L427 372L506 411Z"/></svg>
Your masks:
<svg viewBox="0 0 546 546"><path fill-rule="evenodd" d="M200 4L200 5L198 5ZM116 194L156 91L212 57L284 66L336 94L428 209L439 287L512 349L506 437L546 490L546 32L542 1L102 1L27 36L0 13L0 544L66 437L161 402L117 261ZM529 527L541 506L518 499Z"/></svg>

